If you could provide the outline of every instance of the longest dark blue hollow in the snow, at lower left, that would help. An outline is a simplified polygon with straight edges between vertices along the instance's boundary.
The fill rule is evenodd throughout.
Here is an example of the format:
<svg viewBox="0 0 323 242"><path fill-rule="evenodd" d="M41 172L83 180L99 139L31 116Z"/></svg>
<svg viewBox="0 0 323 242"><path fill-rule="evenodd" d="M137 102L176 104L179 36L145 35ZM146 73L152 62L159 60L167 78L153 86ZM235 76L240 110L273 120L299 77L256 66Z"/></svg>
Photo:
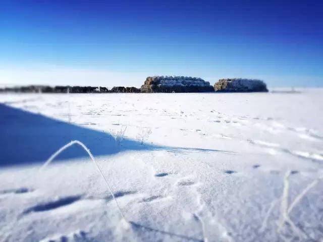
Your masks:
<svg viewBox="0 0 323 242"><path fill-rule="evenodd" d="M30 208L26 209L23 212L23 214L28 214L31 212L43 212L43 211L48 211L48 210L52 210L52 209L57 209L62 206L70 205L70 204L80 200L81 198L82 198L81 195L77 195L77 196L69 196L69 197L60 198L56 201L51 201L51 202L47 202L47 203L40 203L34 207L30 207Z"/></svg>

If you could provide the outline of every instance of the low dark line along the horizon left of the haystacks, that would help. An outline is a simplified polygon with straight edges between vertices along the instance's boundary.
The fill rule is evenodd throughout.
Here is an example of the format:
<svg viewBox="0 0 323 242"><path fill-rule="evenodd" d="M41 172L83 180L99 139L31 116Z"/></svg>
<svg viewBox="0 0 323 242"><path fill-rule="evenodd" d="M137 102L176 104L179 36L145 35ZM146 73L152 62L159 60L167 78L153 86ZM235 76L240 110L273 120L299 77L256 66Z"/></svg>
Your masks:
<svg viewBox="0 0 323 242"><path fill-rule="evenodd" d="M139 88L135 87L113 87L109 90L106 87L81 87L81 86L17 86L0 88L0 92L19 92L19 93L137 93Z"/></svg>

